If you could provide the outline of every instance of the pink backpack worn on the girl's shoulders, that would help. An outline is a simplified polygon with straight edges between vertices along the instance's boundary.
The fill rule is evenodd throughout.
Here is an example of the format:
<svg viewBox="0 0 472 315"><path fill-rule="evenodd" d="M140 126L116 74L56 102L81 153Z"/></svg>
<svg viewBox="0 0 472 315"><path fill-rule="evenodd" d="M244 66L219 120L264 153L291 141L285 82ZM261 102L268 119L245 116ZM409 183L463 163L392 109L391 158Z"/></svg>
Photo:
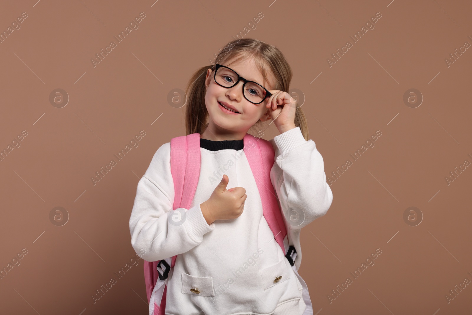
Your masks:
<svg viewBox="0 0 472 315"><path fill-rule="evenodd" d="M270 181L270 170L274 164L274 149L269 141L246 134L243 138L244 153L249 162L262 201L264 218L274 233L277 243L286 253L292 267L296 258L295 247L285 246L287 229L282 218L277 194ZM251 143L254 145L249 145ZM200 176L200 134L178 136L170 140L170 171L174 180L174 205L177 208L190 209ZM287 250L286 250L286 247ZM164 315L166 308L167 278L170 268L174 267L177 255L154 262L144 261L144 280L149 302L150 315ZM294 258L294 259L295 259ZM298 276L296 268L293 267ZM313 314L308 288L298 276L303 286L303 299L307 305L303 314Z"/></svg>

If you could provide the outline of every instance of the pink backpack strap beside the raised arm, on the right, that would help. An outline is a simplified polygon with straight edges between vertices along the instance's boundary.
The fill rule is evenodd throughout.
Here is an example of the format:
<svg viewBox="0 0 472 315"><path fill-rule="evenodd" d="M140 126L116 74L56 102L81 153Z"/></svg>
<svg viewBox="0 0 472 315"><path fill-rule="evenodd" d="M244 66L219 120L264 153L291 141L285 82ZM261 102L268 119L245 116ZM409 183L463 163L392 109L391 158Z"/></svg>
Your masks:
<svg viewBox="0 0 472 315"><path fill-rule="evenodd" d="M278 245L286 254L287 249L284 246L284 238L287 235L287 229L282 218L274 186L270 181L270 170L274 165L274 148L269 141L261 138L256 141L255 137L250 134L246 134L243 140L244 153L251 166L251 171L261 196L264 218L269 224L270 230L274 233Z"/></svg>

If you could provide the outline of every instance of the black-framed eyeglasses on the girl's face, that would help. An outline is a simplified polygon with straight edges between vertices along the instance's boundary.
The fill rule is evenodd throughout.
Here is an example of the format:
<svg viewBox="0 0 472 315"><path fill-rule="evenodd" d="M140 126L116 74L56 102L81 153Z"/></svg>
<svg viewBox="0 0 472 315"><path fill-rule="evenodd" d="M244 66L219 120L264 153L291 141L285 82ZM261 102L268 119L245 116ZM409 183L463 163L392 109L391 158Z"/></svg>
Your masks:
<svg viewBox="0 0 472 315"><path fill-rule="evenodd" d="M267 97L270 97L272 93L268 89L263 87L257 82L246 80L244 77L239 76L235 70L228 68L226 66L216 64L215 68L215 82L216 84L226 87L235 86L243 81L243 95L246 100L253 104L260 104L264 102Z"/></svg>

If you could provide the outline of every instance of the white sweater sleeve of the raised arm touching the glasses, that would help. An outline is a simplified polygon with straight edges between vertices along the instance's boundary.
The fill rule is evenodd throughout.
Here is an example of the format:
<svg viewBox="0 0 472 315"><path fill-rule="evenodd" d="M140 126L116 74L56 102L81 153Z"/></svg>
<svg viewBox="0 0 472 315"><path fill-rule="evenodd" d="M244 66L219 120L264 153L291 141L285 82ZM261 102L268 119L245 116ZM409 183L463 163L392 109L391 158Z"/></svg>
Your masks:
<svg viewBox="0 0 472 315"><path fill-rule="evenodd" d="M270 142L275 150L270 180L282 214L291 229L301 229L325 215L333 201L323 158L315 143L303 138L300 127L287 130Z"/></svg>

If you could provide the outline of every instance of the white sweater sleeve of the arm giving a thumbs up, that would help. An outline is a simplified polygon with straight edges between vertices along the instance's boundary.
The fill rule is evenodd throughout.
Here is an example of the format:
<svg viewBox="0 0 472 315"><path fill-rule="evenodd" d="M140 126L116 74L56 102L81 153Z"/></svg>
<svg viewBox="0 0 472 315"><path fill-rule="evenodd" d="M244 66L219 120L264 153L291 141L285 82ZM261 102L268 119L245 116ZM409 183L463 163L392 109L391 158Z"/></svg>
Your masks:
<svg viewBox="0 0 472 315"><path fill-rule="evenodd" d="M166 143L154 154L138 182L129 219L131 245L146 261L185 253L202 243L203 235L215 228L215 223L206 222L200 204L172 210L173 204L170 143Z"/></svg>

